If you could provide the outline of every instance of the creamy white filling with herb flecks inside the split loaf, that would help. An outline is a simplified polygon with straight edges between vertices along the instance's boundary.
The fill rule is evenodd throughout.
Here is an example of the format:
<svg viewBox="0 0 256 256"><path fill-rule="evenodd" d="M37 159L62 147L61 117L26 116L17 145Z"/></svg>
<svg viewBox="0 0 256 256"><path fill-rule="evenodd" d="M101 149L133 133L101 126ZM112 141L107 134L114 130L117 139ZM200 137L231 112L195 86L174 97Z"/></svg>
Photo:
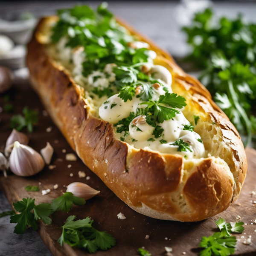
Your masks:
<svg viewBox="0 0 256 256"><path fill-rule="evenodd" d="M86 61L86 55L83 47L71 49L70 47L65 47L66 43L67 38L61 38L55 46L55 54L58 56L58 60L61 61L61 63L64 63L65 67L69 67L76 83L84 87L85 90L90 91L95 87L108 88L111 82L115 81L116 77L115 73L113 73L115 64L107 64L103 72L93 71L92 74L84 77L82 75L82 64ZM149 48L148 44L141 41L132 42L131 47ZM150 70L152 77L162 82L169 93L172 93L171 73L163 66L154 65L154 58L156 58L156 53L149 51L148 62L144 65ZM152 87L152 90L154 93L152 100L154 101L157 101L160 95L166 93L162 86L157 89ZM113 124L116 124L123 118L127 118L130 115L130 112L136 113L137 108L147 107L147 105L140 105L142 101L136 96L134 96L131 101L128 100L127 102L124 102L118 97L118 94L115 94L108 99L106 96L99 98L97 95L92 99L88 93L86 93L86 97L90 107L94 110L95 115L98 116L97 113L99 113L100 118ZM167 105L166 107L169 108ZM163 123L157 123L157 125L164 129L159 138L155 138L154 135L152 135L155 128L148 125L146 122L137 123L136 126L131 122L129 125L129 133L122 132L118 133L117 136L123 137L126 143L134 145L135 148L144 148L159 151L161 153L180 154L186 159L206 157L206 151L204 144L200 142L200 136L194 131L183 130L184 125L190 125L190 123L183 115L182 110L183 109L179 109L180 114L176 114L174 119L164 121ZM192 152L189 150L177 151L178 146L172 145L177 140L183 140L185 143L188 143L186 145L189 145Z"/></svg>

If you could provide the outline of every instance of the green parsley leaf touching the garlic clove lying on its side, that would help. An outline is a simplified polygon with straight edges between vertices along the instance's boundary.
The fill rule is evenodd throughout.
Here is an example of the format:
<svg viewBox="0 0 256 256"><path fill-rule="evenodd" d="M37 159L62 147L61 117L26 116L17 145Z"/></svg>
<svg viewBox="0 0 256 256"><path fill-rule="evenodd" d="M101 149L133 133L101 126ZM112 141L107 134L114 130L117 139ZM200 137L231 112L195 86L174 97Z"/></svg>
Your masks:
<svg viewBox="0 0 256 256"><path fill-rule="evenodd" d="M85 201L83 198L79 198L74 196L71 192L66 192L65 194L61 195L58 198L52 200L52 210L68 212L70 208L75 205L84 205Z"/></svg>

